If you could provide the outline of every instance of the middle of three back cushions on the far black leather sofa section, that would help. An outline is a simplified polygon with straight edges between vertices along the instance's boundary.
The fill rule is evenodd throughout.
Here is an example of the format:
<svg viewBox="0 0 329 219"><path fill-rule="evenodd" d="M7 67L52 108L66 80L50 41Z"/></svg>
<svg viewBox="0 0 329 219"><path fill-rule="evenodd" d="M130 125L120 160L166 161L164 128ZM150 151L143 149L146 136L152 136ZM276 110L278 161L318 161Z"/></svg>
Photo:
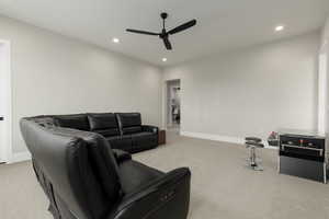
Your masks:
<svg viewBox="0 0 329 219"><path fill-rule="evenodd" d="M115 115L113 113L89 113L88 120L90 130L118 129Z"/></svg>

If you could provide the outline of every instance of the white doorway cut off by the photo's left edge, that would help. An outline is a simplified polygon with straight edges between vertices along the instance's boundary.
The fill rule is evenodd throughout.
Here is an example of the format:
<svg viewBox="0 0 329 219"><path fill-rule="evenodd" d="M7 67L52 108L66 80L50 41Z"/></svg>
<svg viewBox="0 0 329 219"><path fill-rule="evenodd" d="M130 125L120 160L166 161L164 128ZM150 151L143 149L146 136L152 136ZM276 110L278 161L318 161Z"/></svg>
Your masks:
<svg viewBox="0 0 329 219"><path fill-rule="evenodd" d="M10 43L0 39L0 163L11 159Z"/></svg>

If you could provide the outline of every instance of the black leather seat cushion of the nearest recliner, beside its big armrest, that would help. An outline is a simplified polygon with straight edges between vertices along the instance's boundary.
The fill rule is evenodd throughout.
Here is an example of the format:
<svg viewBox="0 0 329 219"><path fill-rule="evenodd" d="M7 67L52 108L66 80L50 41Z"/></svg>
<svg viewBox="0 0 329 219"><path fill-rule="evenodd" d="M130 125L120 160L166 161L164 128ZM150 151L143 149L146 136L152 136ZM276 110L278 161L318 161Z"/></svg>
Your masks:
<svg viewBox="0 0 329 219"><path fill-rule="evenodd" d="M132 194L161 177L164 173L137 161L128 160L118 165L118 175L124 194Z"/></svg>

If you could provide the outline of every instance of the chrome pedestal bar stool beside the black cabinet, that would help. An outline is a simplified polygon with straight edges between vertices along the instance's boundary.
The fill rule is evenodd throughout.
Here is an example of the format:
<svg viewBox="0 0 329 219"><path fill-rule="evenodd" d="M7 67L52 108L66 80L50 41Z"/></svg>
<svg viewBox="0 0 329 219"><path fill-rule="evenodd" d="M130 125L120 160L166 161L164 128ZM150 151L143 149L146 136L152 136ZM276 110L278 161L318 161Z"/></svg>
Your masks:
<svg viewBox="0 0 329 219"><path fill-rule="evenodd" d="M256 137L247 137L245 138L246 148L250 149L250 158L248 159L248 166L254 171L263 171L263 166L260 164L261 159L258 159L256 155L257 148L264 148L262 143L262 139Z"/></svg>

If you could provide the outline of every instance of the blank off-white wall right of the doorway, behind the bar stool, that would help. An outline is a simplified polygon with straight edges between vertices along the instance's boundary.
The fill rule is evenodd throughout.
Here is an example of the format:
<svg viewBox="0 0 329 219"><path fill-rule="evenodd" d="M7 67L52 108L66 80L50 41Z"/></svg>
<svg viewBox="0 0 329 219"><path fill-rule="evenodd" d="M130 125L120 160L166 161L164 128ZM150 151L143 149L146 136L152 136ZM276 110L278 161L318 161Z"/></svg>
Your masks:
<svg viewBox="0 0 329 219"><path fill-rule="evenodd" d="M316 129L319 38L311 33L166 69L164 81L181 79L182 132L240 140Z"/></svg>

